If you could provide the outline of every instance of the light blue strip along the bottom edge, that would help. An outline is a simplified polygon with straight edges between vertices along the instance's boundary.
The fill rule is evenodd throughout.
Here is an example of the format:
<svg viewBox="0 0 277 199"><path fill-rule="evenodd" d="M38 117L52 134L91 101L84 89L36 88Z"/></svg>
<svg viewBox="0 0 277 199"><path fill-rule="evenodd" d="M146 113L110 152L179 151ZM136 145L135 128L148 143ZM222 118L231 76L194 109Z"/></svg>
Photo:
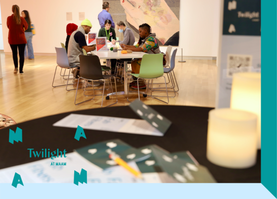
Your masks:
<svg viewBox="0 0 277 199"><path fill-rule="evenodd" d="M3 191L5 190L5 191ZM220 198L220 199L273 199L275 198L260 183L243 184L80 184L48 183L20 184L17 188L11 184L0 184L0 198Z"/></svg>

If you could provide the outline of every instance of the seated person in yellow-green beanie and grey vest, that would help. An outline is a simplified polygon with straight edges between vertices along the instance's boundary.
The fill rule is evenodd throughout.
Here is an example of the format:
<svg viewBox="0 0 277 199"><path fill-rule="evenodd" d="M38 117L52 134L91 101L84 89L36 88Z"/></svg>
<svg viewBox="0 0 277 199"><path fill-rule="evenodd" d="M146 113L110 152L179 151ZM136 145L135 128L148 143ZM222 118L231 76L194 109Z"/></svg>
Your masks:
<svg viewBox="0 0 277 199"><path fill-rule="evenodd" d="M92 27L91 22L88 19L82 21L81 26L75 30L70 37L70 41L68 42L68 62L70 66L80 66L79 55L83 55L83 49L86 52L94 51L94 46L87 46L85 35L89 33ZM75 78L78 78L79 70L76 72ZM88 84L88 86L92 86ZM99 84L94 83L94 86L99 86Z"/></svg>

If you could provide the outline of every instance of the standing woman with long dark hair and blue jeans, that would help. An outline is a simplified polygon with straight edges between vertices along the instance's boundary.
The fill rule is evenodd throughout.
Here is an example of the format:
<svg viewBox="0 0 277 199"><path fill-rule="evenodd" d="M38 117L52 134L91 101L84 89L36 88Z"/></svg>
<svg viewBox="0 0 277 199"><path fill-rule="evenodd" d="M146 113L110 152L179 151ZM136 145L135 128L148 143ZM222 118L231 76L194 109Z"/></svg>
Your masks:
<svg viewBox="0 0 277 199"><path fill-rule="evenodd" d="M26 37L26 41L27 41L27 45L25 48L25 53L24 53L24 57L25 59L34 59L33 56L33 49L32 49L32 30L31 30L31 19L29 16L29 12L26 10L23 10L21 12L21 16L26 20L26 22L28 23L28 28L25 29L25 37ZM27 56L27 49L28 49L28 56Z"/></svg>

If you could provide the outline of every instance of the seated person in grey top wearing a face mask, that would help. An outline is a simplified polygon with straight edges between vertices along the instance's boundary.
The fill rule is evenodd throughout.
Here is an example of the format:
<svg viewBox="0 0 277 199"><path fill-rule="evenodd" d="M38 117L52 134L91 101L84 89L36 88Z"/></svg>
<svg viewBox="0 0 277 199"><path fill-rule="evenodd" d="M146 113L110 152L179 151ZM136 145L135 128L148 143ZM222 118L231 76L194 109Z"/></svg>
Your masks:
<svg viewBox="0 0 277 199"><path fill-rule="evenodd" d="M125 44L125 45L133 45L134 44L134 33L133 31L128 28L123 21L120 21L116 24L116 28L119 32L123 32L123 41L119 41L119 44ZM114 45L116 42L115 39L113 39L112 44Z"/></svg>

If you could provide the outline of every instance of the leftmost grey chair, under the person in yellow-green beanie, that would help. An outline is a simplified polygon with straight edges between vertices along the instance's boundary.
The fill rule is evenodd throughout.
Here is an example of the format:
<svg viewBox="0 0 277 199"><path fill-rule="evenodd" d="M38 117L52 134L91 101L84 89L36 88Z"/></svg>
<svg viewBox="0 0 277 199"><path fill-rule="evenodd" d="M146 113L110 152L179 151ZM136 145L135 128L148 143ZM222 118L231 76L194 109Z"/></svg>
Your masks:
<svg viewBox="0 0 277 199"><path fill-rule="evenodd" d="M62 86L66 86L66 91L72 91L72 90L75 90L75 89L71 89L71 90L67 90L67 86L68 85L74 85L75 84L75 78L73 76L73 83L72 84L68 84L68 80L70 79L69 76L70 76L70 72L73 68L77 68L78 66L70 66L69 65L69 62L68 62L68 57L67 57L67 54L66 54L66 50L65 48L55 48L56 49L56 53L57 53L57 66L56 66L56 70L55 70L55 73L54 73L54 78L53 78L53 83L52 83L52 87L62 87ZM69 70L69 73L68 73L68 78L67 78L67 83L65 85L58 85L58 86L54 86L54 80L55 80L55 75L56 75L56 71L57 71L57 67L60 67L61 69L64 68L64 69L70 69ZM76 70L77 71L77 70ZM64 76L63 76L64 78ZM66 80L66 79L65 79Z"/></svg>

